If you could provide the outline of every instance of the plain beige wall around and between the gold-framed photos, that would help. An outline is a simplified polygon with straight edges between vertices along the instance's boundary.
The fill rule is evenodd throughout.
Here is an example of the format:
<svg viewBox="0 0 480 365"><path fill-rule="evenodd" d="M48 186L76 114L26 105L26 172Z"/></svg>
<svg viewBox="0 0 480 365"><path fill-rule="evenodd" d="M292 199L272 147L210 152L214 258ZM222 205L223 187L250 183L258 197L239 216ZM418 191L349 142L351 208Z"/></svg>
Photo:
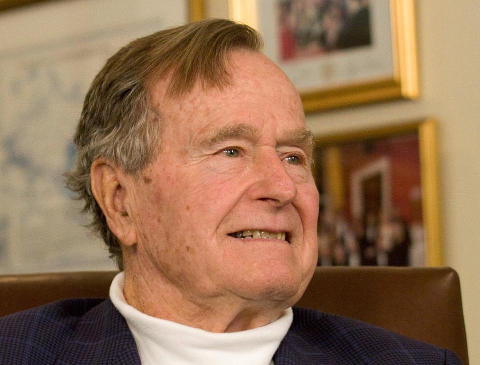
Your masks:
<svg viewBox="0 0 480 365"><path fill-rule="evenodd" d="M210 2L226 16L226 0ZM218 7L212 5L216 3ZM444 264L458 271L471 364L480 364L480 1L418 0L421 96L311 114L315 134L433 116L438 121Z"/></svg>

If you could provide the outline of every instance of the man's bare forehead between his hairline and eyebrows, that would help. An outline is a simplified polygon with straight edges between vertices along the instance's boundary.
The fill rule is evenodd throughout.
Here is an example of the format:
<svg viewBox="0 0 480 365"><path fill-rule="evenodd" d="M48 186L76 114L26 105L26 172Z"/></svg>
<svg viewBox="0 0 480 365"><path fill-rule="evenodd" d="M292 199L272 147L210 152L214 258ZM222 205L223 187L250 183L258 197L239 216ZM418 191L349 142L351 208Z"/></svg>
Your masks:
<svg viewBox="0 0 480 365"><path fill-rule="evenodd" d="M163 116L165 127L176 133L208 133L231 124L252 124L284 134L304 127L298 92L285 74L258 52L234 51L229 67L230 83L220 88L202 88L197 83L178 98L165 96L165 82L151 89L153 106ZM163 127L162 127L163 130Z"/></svg>

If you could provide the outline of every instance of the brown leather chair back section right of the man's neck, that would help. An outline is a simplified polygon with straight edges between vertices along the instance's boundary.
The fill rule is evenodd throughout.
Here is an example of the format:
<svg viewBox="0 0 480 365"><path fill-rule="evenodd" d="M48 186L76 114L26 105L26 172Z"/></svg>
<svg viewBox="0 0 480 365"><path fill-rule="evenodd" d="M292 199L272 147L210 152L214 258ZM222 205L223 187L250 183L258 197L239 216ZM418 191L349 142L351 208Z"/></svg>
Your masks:
<svg viewBox="0 0 480 365"><path fill-rule="evenodd" d="M317 268L297 306L448 348L468 364L460 282L451 268Z"/></svg>

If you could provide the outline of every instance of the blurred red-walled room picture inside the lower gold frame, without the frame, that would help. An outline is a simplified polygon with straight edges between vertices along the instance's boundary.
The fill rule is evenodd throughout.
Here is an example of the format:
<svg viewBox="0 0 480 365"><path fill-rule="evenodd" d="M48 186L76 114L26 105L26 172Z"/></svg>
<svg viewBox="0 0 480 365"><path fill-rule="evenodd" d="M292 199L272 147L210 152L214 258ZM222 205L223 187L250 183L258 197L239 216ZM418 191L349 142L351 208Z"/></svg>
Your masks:
<svg viewBox="0 0 480 365"><path fill-rule="evenodd" d="M320 146L319 266L423 266L418 135Z"/></svg>

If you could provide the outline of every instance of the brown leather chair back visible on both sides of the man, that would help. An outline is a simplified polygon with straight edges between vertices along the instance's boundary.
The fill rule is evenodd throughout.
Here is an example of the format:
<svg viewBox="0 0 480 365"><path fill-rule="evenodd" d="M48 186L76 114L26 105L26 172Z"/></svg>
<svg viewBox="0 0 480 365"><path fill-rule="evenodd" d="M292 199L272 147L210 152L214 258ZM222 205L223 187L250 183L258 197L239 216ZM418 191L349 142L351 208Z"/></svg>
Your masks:
<svg viewBox="0 0 480 365"><path fill-rule="evenodd" d="M0 316L58 299L106 297L115 274L0 276ZM450 268L317 268L298 306L448 348L468 364L460 285Z"/></svg>

